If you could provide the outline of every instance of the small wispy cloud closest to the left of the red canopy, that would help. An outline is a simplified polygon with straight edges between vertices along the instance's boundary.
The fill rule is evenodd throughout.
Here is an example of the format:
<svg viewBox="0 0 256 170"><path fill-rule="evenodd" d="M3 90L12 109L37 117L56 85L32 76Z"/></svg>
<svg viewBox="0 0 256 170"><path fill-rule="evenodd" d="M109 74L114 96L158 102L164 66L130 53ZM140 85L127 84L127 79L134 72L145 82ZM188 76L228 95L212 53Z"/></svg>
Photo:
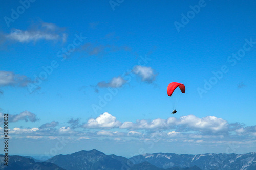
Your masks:
<svg viewBox="0 0 256 170"><path fill-rule="evenodd" d="M134 74L141 77L141 81L152 83L155 81L157 74L154 74L154 70L151 67L136 65L133 67Z"/></svg>

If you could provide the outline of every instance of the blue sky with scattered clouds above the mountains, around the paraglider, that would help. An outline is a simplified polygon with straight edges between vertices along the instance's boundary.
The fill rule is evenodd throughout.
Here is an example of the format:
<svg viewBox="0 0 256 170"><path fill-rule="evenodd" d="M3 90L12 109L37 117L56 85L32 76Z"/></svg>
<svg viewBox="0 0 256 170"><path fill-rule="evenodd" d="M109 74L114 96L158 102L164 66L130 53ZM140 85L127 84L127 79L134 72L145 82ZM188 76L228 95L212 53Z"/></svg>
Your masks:
<svg viewBox="0 0 256 170"><path fill-rule="evenodd" d="M2 2L9 154L255 152L255 5ZM170 82L186 86L175 115Z"/></svg>

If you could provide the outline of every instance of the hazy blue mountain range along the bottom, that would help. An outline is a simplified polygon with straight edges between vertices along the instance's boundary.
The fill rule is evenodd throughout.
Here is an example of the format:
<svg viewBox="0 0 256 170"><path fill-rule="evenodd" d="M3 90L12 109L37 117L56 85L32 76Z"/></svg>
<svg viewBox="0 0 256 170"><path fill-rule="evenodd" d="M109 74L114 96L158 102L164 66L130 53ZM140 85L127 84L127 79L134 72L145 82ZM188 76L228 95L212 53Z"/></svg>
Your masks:
<svg viewBox="0 0 256 170"><path fill-rule="evenodd" d="M153 153L136 155L131 158L106 155L95 149L79 151L67 155L56 155L45 162L32 157L9 156L8 166L4 165L4 155L0 155L0 169L29 170L252 170L256 169L256 153L247 154L173 154Z"/></svg>

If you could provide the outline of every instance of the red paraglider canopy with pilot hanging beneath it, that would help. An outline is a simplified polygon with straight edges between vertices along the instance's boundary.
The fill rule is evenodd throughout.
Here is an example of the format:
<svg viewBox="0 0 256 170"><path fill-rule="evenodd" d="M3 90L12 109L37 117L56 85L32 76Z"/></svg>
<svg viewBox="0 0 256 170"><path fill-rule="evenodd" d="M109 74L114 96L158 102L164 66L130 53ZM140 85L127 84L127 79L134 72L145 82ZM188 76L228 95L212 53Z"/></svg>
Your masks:
<svg viewBox="0 0 256 170"><path fill-rule="evenodd" d="M177 113L175 107L176 107L176 103L177 103L177 101L178 101L178 96L172 96L172 94L174 93L174 91L175 91L175 89L176 89L177 87L180 88L180 91L181 91L182 93L185 93L185 90L186 90L186 89L185 89L185 85L184 85L184 84L177 83L177 82L172 82L172 83L170 83L170 84L168 85L168 87L167 87L167 94L168 94L168 96L174 98L174 99L172 99L173 107L174 107L174 111L172 112L172 114ZM178 95L180 94L180 92L177 92L177 93L178 93Z"/></svg>

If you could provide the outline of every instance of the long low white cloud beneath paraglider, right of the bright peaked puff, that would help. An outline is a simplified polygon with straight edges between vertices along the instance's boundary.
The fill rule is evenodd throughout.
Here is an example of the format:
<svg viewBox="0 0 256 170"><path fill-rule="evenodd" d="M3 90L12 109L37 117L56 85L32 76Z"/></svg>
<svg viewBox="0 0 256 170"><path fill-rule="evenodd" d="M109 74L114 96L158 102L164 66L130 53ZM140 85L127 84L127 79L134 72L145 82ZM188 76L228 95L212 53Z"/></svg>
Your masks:
<svg viewBox="0 0 256 170"><path fill-rule="evenodd" d="M165 130L176 129L178 132L198 131L204 134L228 133L229 124L222 118L215 116L206 116L203 118L194 115L182 116L179 119L169 117L168 119L136 120L133 122L124 122L120 129L148 129L148 130Z"/></svg>

